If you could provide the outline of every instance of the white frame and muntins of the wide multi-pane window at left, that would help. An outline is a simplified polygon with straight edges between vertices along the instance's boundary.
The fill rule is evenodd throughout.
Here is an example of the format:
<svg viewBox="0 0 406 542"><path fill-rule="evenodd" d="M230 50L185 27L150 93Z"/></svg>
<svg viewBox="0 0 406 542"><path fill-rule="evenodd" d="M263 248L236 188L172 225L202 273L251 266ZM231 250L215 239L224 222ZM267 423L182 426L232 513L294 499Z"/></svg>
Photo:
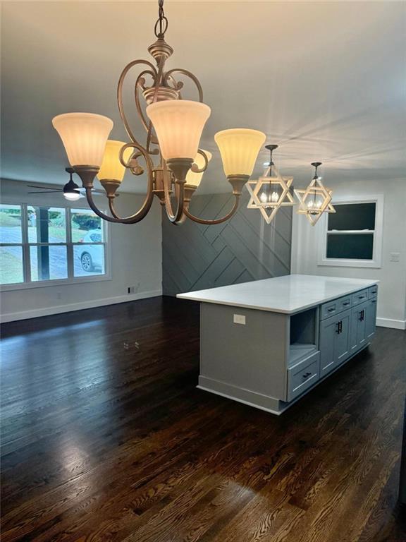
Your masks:
<svg viewBox="0 0 406 542"><path fill-rule="evenodd" d="M75 202L77 203L77 202ZM17 201L10 200L1 200L1 205L19 205L21 207L21 230L22 230L22 239L21 243L0 243L0 246L22 246L23 247L23 278L24 282L13 282L12 284L0 284L0 291L13 291L13 290L23 290L31 288L43 288L50 286L63 286L65 284L81 284L86 282L102 282L105 280L111 280L111 243L110 240L110 224L105 220L101 219L101 227L103 228L103 237L104 241L100 243L78 243L72 241L72 232L71 232L71 215L73 209L83 209L88 210L87 207L78 207L75 206L66 206L59 205L58 203L49 205L41 203L20 203ZM28 218L27 218L27 209L28 207L55 207L61 210L65 210L65 223L66 223L66 241L64 243L29 243L28 242ZM73 246L81 244L94 244L94 245L103 245L104 246L104 274L103 275L90 275L89 277L75 277L74 276L74 261L73 261ZM66 246L66 266L68 277L66 279L49 279L49 280L31 280L30 275L30 247L31 246Z"/></svg>

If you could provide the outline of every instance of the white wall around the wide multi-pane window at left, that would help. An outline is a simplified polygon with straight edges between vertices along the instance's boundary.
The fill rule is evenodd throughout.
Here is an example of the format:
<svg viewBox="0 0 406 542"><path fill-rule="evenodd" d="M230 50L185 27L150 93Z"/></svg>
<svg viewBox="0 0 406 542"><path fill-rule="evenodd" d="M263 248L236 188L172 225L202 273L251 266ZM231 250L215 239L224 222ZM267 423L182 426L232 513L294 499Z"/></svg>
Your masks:
<svg viewBox="0 0 406 542"><path fill-rule="evenodd" d="M61 188L61 186L57 187ZM66 206L63 195L29 195L33 190L27 183L2 181L1 203L30 203ZM143 197L121 194L117 200L119 212L133 214ZM104 203L104 198L97 202ZM72 207L87 207L85 198ZM88 207L87 207L88 208ZM82 284L55 284L1 293L1 320L19 320L81 308L104 306L134 299L159 296L162 291L161 207L154 201L149 215L139 224L111 224L111 279ZM128 294L128 287L135 294Z"/></svg>

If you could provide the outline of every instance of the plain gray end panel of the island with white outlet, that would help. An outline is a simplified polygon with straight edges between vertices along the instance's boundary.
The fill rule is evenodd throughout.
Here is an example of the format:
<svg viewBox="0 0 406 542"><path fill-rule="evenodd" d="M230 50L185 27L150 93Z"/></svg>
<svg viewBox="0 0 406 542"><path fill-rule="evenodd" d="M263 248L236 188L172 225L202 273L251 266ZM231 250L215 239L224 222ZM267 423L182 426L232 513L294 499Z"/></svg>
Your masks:
<svg viewBox="0 0 406 542"><path fill-rule="evenodd" d="M200 307L199 382L206 378L285 401L289 315L214 303ZM234 323L234 315L245 317L245 325Z"/></svg>

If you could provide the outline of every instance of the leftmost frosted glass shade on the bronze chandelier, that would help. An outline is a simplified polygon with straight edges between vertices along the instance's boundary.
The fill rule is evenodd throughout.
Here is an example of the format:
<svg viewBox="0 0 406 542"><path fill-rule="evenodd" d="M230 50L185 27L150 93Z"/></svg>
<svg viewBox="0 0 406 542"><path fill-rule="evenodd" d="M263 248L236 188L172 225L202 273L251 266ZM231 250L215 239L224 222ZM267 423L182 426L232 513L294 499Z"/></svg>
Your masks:
<svg viewBox="0 0 406 542"><path fill-rule="evenodd" d="M113 128L111 119L92 113L66 113L54 116L52 125L61 137L72 167L100 167Z"/></svg>

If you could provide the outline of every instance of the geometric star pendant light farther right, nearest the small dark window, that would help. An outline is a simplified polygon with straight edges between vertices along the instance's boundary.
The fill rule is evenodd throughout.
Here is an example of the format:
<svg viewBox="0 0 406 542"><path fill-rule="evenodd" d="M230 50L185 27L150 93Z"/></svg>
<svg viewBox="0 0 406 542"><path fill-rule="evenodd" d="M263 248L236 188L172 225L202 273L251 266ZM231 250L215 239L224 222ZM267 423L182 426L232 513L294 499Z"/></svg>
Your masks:
<svg viewBox="0 0 406 542"><path fill-rule="evenodd" d="M312 162L314 177L307 188L295 188L295 194L300 202L297 208L299 215L305 215L314 226L324 212L336 212L331 205L333 191L326 188L317 174L321 162Z"/></svg>

